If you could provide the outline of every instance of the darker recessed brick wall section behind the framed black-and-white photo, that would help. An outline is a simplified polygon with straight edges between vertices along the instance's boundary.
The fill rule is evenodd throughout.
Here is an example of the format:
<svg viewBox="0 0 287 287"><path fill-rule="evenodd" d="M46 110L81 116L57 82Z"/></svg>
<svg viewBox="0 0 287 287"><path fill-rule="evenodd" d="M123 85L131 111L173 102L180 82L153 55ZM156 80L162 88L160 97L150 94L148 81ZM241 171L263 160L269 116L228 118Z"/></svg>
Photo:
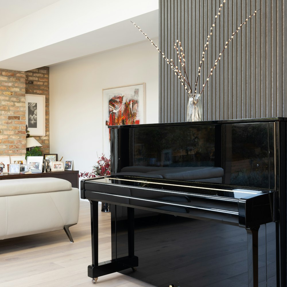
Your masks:
<svg viewBox="0 0 287 287"><path fill-rule="evenodd" d="M46 100L46 135L33 136L43 147L43 154L49 154L49 67L26 71L26 94L45 95Z"/></svg>

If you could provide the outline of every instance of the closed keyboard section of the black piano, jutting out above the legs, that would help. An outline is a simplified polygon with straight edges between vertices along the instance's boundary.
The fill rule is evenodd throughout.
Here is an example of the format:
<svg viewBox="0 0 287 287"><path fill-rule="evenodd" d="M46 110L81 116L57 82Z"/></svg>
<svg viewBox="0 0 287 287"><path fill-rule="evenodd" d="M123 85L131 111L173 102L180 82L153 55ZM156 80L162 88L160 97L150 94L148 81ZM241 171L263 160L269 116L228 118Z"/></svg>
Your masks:
<svg viewBox="0 0 287 287"><path fill-rule="evenodd" d="M130 176L82 181L82 198L244 228L274 221L274 191Z"/></svg>

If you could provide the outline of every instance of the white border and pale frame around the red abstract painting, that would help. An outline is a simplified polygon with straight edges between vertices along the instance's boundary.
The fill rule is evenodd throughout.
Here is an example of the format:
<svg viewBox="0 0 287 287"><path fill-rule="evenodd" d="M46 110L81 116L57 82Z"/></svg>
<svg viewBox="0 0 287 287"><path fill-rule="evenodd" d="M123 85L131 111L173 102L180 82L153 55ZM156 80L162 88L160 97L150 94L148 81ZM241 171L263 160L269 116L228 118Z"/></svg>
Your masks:
<svg viewBox="0 0 287 287"><path fill-rule="evenodd" d="M138 89L138 118L139 123L146 123L146 83L106 88L102 90L103 94L103 154L108 158L110 156L109 130L106 121L109 121L109 102L110 99L117 95L130 96L134 95L135 89Z"/></svg>

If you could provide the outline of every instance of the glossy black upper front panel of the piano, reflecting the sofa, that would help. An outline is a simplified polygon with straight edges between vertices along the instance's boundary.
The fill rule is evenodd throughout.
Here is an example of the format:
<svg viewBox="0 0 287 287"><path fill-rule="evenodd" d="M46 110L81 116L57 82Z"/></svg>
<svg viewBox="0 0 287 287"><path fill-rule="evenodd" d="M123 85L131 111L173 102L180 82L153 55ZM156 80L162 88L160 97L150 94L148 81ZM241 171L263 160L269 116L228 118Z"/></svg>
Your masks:
<svg viewBox="0 0 287 287"><path fill-rule="evenodd" d="M275 190L284 120L114 126L111 174Z"/></svg>

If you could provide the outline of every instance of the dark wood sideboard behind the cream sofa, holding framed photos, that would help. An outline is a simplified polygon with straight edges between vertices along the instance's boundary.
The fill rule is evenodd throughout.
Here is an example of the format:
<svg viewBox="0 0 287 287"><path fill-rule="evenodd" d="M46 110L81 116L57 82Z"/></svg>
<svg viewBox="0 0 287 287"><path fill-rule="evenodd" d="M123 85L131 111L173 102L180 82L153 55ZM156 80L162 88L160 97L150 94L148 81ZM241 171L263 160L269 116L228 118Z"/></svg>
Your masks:
<svg viewBox="0 0 287 287"><path fill-rule="evenodd" d="M3 175L0 176L0 180L36 178L36 177L56 177L59 179L66 179L72 184L72 187L79 188L79 170L48 171L42 173L29 173L29 174L4 173Z"/></svg>

